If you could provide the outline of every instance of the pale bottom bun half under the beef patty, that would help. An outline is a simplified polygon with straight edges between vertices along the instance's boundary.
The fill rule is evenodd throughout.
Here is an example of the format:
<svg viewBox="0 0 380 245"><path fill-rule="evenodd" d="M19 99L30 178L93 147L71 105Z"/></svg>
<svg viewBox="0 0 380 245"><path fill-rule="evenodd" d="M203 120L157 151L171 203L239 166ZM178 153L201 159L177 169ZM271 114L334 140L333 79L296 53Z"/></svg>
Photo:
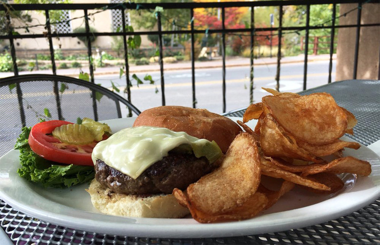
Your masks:
<svg viewBox="0 0 380 245"><path fill-rule="evenodd" d="M147 197L143 195L128 195L112 192L103 188L94 179L89 189L91 202L102 213L145 218L182 218L189 210L178 204L172 194L156 194Z"/></svg>

